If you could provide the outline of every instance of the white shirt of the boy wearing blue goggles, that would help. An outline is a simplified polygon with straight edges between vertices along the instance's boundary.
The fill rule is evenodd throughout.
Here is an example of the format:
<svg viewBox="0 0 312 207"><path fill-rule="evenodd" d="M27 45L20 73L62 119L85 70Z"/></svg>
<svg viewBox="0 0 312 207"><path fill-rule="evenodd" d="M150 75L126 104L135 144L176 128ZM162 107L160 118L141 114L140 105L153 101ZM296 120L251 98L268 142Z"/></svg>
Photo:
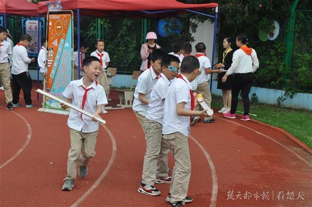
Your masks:
<svg viewBox="0 0 312 207"><path fill-rule="evenodd" d="M146 118L162 125L164 118L164 102L171 81L161 74L152 90L151 101L148 104Z"/></svg>

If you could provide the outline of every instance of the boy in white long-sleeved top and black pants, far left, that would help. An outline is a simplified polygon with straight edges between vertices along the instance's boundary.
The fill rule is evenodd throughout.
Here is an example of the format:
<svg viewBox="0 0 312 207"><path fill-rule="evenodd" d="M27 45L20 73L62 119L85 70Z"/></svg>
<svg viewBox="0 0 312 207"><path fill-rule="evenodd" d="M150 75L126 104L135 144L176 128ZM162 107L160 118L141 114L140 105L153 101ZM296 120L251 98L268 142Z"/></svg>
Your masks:
<svg viewBox="0 0 312 207"><path fill-rule="evenodd" d="M20 107L20 89L23 90L25 107L33 108L31 100L32 80L28 73L28 64L35 62L35 57L29 58L26 47L31 37L24 34L20 42L13 48L12 79L13 79L13 107Z"/></svg>

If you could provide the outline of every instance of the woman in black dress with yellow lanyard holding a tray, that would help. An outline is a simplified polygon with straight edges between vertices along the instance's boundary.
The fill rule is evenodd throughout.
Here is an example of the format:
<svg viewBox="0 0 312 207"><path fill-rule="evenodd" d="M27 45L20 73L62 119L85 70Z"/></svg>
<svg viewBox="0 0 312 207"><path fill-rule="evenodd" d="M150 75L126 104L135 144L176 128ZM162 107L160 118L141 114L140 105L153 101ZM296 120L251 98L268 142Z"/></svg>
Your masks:
<svg viewBox="0 0 312 207"><path fill-rule="evenodd" d="M223 48L225 49L222 56L222 64L218 65L217 68L224 68L223 70L229 70L232 64L232 58L234 50L232 49L232 39L225 38L223 39ZM218 85L217 89L222 89L222 100L223 107L218 111L218 113L226 113L231 110L231 101L232 101L232 85L233 85L233 75L230 75L225 83L222 83L222 77L225 75L225 72L219 73L218 75Z"/></svg>

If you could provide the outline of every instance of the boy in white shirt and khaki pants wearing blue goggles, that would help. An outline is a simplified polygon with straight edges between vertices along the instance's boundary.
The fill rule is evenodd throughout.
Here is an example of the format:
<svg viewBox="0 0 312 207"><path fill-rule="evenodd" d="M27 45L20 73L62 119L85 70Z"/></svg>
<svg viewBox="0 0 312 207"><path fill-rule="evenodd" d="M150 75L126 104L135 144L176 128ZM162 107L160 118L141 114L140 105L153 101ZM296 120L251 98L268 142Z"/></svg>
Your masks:
<svg viewBox="0 0 312 207"><path fill-rule="evenodd" d="M154 181L156 183L171 183L171 177L168 176L167 162L170 149L161 143L163 106L168 86L177 75L179 62L179 58L173 55L165 55L162 58L162 73L152 90L151 101L148 104L149 109L144 122L146 152L142 181L137 189L139 193L146 195L160 195L160 191L154 187Z"/></svg>

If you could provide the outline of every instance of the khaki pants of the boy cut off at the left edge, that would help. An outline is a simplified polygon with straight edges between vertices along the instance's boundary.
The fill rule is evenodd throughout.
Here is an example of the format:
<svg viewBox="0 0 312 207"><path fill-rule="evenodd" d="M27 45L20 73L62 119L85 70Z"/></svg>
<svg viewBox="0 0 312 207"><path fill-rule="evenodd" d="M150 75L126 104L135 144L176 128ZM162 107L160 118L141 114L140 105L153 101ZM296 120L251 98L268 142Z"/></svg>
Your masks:
<svg viewBox="0 0 312 207"><path fill-rule="evenodd" d="M11 103L13 100L11 91L10 66L8 62L0 63L0 82L4 89L5 102Z"/></svg>

